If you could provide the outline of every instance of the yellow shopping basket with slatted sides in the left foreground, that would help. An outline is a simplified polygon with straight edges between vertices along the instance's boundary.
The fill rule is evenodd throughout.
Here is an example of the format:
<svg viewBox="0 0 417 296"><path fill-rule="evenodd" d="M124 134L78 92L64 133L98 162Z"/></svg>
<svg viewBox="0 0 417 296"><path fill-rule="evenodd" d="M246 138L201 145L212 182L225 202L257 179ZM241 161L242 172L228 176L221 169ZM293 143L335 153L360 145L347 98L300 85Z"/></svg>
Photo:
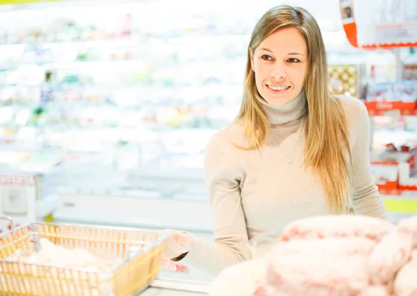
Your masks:
<svg viewBox="0 0 417 296"><path fill-rule="evenodd" d="M156 278L162 243L168 236L140 229L70 224L17 227L0 236L0 295L137 295ZM117 259L117 263L106 272L90 272L6 260L17 249L38 252L42 238L65 248L84 249L99 258Z"/></svg>

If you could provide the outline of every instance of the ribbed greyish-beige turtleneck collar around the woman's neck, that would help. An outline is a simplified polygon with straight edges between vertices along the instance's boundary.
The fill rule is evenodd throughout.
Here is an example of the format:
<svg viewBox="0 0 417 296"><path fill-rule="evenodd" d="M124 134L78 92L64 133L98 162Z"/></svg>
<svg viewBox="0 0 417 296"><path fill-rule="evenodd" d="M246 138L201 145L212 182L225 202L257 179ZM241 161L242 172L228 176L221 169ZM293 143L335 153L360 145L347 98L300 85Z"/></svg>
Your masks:
<svg viewBox="0 0 417 296"><path fill-rule="evenodd" d="M258 98L261 108L268 116L270 124L286 124L302 117L308 110L304 90L293 101L283 106L271 106L261 97Z"/></svg>

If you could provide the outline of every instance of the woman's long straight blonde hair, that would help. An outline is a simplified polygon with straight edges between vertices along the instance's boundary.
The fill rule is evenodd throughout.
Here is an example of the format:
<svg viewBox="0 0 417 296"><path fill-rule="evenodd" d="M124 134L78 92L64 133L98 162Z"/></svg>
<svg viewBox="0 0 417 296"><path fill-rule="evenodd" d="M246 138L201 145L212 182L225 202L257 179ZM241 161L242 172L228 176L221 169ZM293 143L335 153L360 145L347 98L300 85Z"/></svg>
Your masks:
<svg viewBox="0 0 417 296"><path fill-rule="evenodd" d="M268 135L270 123L257 99L260 94L251 67L250 49L255 51L269 35L289 27L300 31L308 49L307 72L302 90L307 99L309 115L304 164L311 167L313 173L320 178L329 210L342 213L348 210L353 173L347 119L341 101L329 94L325 45L318 24L308 11L277 6L268 10L256 24L247 52L243 101L235 122L245 127L249 146L243 149L261 147Z"/></svg>

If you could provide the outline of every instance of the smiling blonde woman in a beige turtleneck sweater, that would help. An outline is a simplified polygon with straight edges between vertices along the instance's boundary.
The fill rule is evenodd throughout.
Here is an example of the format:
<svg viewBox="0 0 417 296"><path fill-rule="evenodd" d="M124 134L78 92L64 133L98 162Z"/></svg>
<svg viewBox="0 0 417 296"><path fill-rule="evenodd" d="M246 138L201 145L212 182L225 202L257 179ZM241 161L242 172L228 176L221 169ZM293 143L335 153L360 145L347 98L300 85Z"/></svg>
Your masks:
<svg viewBox="0 0 417 296"><path fill-rule="evenodd" d="M385 217L370 172L367 110L330 96L327 77L313 16L290 6L265 13L250 40L240 112L206 147L214 245L171 231L166 258L217 274L268 252L294 220Z"/></svg>

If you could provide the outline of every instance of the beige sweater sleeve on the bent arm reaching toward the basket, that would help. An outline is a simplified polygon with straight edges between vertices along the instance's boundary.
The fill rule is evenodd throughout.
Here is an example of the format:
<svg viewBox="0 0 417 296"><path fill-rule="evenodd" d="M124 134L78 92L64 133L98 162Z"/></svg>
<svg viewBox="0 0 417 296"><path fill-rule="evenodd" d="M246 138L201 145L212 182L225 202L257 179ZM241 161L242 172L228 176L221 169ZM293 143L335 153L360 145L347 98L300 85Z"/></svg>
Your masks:
<svg viewBox="0 0 417 296"><path fill-rule="evenodd" d="M213 275L250 258L240 200L243 170L233 148L228 140L216 136L208 142L204 170L214 215L214 243L195 237L195 248L180 261Z"/></svg>

